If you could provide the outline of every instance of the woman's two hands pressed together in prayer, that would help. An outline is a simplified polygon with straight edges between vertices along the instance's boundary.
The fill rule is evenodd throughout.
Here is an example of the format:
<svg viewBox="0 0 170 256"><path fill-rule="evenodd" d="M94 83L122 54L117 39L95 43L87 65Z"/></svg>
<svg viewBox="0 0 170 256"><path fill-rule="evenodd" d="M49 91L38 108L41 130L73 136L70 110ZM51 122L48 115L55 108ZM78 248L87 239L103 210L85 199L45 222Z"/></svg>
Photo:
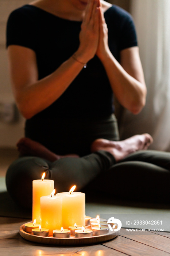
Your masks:
<svg viewBox="0 0 170 256"><path fill-rule="evenodd" d="M96 54L102 59L109 51L108 28L100 0L89 0L80 31L77 57L86 63Z"/></svg>

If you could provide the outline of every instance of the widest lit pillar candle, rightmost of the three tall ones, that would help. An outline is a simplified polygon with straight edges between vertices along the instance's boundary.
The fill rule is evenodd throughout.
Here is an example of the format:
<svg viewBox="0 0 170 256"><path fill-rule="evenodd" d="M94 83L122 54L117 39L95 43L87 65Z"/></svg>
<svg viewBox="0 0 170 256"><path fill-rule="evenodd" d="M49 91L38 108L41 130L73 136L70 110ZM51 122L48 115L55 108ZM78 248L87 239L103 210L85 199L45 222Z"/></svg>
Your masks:
<svg viewBox="0 0 170 256"><path fill-rule="evenodd" d="M62 196L62 219L63 228L77 225L85 226L85 193L73 192L76 186L73 186L69 192L57 193Z"/></svg>

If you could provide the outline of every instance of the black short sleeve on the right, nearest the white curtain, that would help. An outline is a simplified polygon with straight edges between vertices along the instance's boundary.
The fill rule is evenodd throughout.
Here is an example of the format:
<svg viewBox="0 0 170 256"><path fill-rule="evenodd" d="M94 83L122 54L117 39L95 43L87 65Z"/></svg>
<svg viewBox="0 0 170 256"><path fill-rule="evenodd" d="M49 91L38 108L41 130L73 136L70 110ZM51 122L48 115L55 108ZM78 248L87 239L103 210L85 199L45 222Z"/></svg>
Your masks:
<svg viewBox="0 0 170 256"><path fill-rule="evenodd" d="M138 41L137 41L135 24L132 19L132 16L128 14L123 21L123 26L120 34L119 49L123 50L123 49L130 48L137 45L138 45Z"/></svg>

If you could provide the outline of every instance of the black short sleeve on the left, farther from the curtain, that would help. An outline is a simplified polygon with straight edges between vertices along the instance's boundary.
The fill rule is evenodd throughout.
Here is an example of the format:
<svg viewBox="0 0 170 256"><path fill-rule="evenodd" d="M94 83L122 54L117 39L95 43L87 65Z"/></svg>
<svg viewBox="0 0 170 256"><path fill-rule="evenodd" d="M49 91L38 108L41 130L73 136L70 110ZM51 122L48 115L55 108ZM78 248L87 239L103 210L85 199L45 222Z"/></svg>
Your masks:
<svg viewBox="0 0 170 256"><path fill-rule="evenodd" d="M20 45L35 50L35 28L31 16L21 8L13 11L8 18L6 47Z"/></svg>

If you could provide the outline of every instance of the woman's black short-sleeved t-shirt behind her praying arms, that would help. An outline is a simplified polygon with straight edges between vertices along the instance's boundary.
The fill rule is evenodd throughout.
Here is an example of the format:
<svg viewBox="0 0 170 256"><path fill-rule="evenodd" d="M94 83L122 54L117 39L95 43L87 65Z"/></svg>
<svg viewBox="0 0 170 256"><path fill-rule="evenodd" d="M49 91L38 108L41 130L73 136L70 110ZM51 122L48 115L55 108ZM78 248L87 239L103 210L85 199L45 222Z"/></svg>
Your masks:
<svg viewBox="0 0 170 256"><path fill-rule="evenodd" d="M120 61L120 51L137 45L135 27L128 12L113 5L105 13L109 48ZM54 72L79 46L81 22L59 18L33 5L13 11L7 23L7 46L35 51L39 79ZM114 112L113 93L105 69L94 56L67 90L37 118L93 118ZM37 99L38 100L38 99ZM29 120L28 120L29 121Z"/></svg>

